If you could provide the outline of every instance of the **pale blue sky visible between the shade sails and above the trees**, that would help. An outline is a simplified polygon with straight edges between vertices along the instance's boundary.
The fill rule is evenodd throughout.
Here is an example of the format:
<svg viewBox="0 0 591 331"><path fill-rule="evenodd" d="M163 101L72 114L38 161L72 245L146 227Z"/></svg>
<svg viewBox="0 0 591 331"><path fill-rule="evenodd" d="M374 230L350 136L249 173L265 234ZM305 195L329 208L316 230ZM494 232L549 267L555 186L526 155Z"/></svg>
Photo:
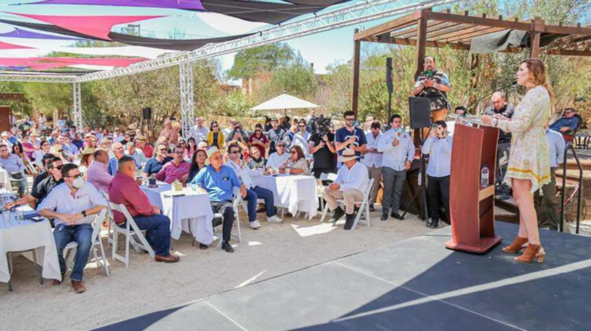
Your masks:
<svg viewBox="0 0 591 331"><path fill-rule="evenodd" d="M190 11L179 11L176 9L160 8L136 8L136 7L109 7L109 6L76 6L76 5L20 5L10 4L27 2L25 0L7 1L0 0L0 18L18 21L34 20L14 16L5 12L20 12L24 14L40 15L168 15L165 18L150 19L139 22L142 35L149 34L155 38L167 38L172 32L184 34L184 38L217 37L219 35L240 34L249 31L256 31L264 28L265 25L252 24L223 17L223 15L212 13L195 13ZM391 19L391 18L389 18ZM366 22L365 27L371 27L388 19ZM317 73L326 72L326 66L332 63L347 61L353 54L353 30L359 26L350 26L321 32L319 34L296 38L287 41L296 51L309 63L314 63L314 70ZM116 30L117 27L114 28ZM0 24L0 32L11 31L9 25ZM0 41L12 42L14 44L30 45L43 50L56 47L56 45L69 45L68 42L22 40L17 38L1 38ZM20 51L22 53L22 51ZM41 53L42 51L37 51ZM0 56L15 56L16 51L0 51ZM37 56L35 51L30 55ZM18 55L22 57L22 55ZM224 69L228 69L233 63L233 54L220 57Z"/></svg>

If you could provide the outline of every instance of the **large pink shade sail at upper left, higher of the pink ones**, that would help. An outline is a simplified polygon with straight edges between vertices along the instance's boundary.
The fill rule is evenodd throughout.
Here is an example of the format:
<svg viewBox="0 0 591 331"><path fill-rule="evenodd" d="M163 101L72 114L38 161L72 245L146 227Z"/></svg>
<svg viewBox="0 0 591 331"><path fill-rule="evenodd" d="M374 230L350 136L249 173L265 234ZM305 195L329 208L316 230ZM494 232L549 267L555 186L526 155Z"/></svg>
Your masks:
<svg viewBox="0 0 591 331"><path fill-rule="evenodd" d="M61 16L61 15L33 15L33 14L20 14L15 12L7 12L8 14L18 15L22 17L28 17L43 21L58 27L78 32L80 34L90 35L95 38L102 40L111 41L109 38L109 32L113 28L113 25L127 24L131 22L144 21L145 19L165 17L160 16Z"/></svg>

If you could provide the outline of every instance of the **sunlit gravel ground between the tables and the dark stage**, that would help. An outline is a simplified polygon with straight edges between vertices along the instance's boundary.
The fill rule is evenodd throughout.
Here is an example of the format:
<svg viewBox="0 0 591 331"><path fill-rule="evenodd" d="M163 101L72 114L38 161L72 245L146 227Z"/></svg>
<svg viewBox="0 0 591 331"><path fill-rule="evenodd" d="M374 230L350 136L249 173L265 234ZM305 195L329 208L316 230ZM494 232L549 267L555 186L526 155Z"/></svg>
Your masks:
<svg viewBox="0 0 591 331"><path fill-rule="evenodd" d="M14 291L9 293L6 284L0 285L0 310L6 312L0 317L0 329L90 330L429 231L414 215L382 222L379 214L372 213L371 227L360 225L356 231L343 231L344 221L336 227L320 224L319 217L311 221L285 218L282 224L261 222L258 230L242 222L243 242L233 242L232 254L217 249L217 241L208 250L199 250L183 234L173 243L173 252L181 256L176 264L155 263L147 254L132 250L129 268L109 258L111 276L106 277L89 262L83 294L73 292L69 272L60 286L53 286L51 280L40 285L30 261L18 256L12 275ZM259 214L259 219L264 215ZM105 248L110 257L111 246Z"/></svg>

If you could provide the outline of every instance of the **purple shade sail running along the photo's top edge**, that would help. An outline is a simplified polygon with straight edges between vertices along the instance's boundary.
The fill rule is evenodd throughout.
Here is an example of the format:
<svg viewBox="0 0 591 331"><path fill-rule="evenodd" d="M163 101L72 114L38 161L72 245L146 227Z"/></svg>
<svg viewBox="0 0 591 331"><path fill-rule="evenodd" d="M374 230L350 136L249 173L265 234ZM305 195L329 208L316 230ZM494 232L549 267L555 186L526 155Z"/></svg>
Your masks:
<svg viewBox="0 0 591 331"><path fill-rule="evenodd" d="M205 10L199 0L44 0L24 5L94 5Z"/></svg>

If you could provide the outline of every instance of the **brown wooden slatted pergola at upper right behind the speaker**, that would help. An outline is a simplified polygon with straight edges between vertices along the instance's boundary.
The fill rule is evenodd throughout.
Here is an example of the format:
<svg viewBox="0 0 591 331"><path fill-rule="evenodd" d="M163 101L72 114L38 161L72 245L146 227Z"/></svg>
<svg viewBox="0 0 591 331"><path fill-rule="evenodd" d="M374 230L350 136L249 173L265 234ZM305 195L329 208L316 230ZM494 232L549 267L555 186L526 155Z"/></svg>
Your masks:
<svg viewBox="0 0 591 331"><path fill-rule="evenodd" d="M384 42L387 44L411 45L417 47L417 70L415 77L423 70L426 47L450 47L454 50L470 50L472 38L492 34L504 30L526 31L530 35L530 55L538 57L540 44L553 41L554 47L548 54L591 56L591 28L559 25L547 25L544 20L536 17L529 21L519 21L517 18L505 20L502 16L488 18L434 12L423 9L394 19L376 27L363 31L355 30L353 51L353 97L352 110L358 110L359 97L359 50L361 42ZM550 46L549 46L550 47ZM509 47L505 52L521 51L519 47Z"/></svg>

